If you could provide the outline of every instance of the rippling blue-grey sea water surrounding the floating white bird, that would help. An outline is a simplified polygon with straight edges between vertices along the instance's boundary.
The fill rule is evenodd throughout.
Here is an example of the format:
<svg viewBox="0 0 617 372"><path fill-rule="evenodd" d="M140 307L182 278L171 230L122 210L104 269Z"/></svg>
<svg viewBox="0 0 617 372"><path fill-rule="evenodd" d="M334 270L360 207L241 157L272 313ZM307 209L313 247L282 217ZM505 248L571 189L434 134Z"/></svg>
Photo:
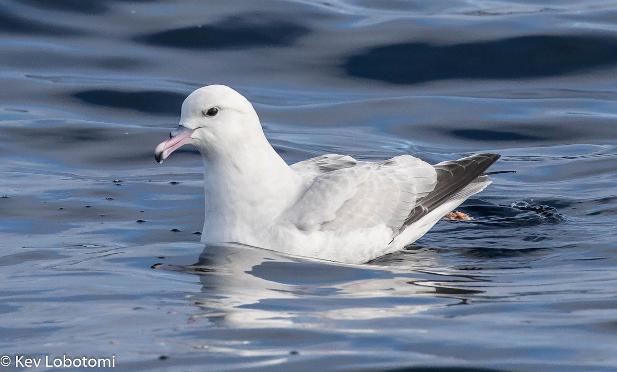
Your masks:
<svg viewBox="0 0 617 372"><path fill-rule="evenodd" d="M0 2L0 353L122 370L617 367L609 1ZM498 152L494 183L365 265L199 244L193 89L288 162ZM492 169L493 169L492 168ZM39 368L41 369L41 368Z"/></svg>

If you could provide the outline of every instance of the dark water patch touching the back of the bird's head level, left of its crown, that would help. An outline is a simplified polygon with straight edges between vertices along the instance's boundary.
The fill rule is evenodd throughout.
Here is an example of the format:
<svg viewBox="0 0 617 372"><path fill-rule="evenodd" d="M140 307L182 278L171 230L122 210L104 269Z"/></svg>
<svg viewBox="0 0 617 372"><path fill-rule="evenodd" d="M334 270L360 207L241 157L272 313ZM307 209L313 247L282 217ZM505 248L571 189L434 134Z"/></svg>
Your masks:
<svg viewBox="0 0 617 372"><path fill-rule="evenodd" d="M178 114L186 95L167 91L91 89L72 94L88 104L131 109L148 114Z"/></svg>

